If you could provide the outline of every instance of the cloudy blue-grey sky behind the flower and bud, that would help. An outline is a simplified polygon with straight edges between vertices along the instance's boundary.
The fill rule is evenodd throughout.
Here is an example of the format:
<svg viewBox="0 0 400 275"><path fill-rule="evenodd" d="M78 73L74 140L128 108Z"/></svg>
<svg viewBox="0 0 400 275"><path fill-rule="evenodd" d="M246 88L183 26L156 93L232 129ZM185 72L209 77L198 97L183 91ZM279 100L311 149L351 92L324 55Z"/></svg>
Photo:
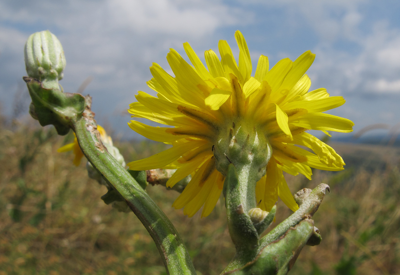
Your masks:
<svg viewBox="0 0 400 275"><path fill-rule="evenodd" d="M246 38L254 68L260 54L270 64L316 54L308 70L311 89L344 96L330 113L354 121L355 130L400 121L400 1L367 0L35 0L0 2L0 102L13 111L24 87L23 47L28 36L50 30L64 47L67 66L60 84L93 96L99 124L125 138L137 137L125 112L138 90L151 93L152 62L168 70L166 54L184 56L189 42L199 56L218 40L238 55L234 32Z"/></svg>

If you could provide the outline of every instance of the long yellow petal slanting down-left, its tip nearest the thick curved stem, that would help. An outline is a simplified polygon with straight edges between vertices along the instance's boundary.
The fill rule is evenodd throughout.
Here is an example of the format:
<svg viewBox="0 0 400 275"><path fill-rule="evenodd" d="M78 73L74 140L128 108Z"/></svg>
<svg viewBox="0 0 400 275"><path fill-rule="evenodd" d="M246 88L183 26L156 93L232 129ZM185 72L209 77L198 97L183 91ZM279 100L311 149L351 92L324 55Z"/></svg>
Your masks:
<svg viewBox="0 0 400 275"><path fill-rule="evenodd" d="M140 170L151 170L163 167L172 163L178 159L182 154L190 149L199 147L203 145L205 141L189 141L181 145L174 146L170 149L162 151L156 155L152 155L146 159L140 159L138 161L132 161L128 163L130 170L140 171Z"/></svg>

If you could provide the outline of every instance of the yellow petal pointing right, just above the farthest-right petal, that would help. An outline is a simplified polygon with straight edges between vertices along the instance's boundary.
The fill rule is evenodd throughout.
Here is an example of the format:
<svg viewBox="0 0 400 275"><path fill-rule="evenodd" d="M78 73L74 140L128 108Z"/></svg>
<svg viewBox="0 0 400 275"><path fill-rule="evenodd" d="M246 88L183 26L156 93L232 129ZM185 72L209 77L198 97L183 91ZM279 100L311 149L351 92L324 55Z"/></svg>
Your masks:
<svg viewBox="0 0 400 275"><path fill-rule="evenodd" d="M304 108L308 112L324 112L339 106L342 106L346 102L342 96L331 96L328 98L318 100L300 100L288 102L282 106L282 110Z"/></svg>

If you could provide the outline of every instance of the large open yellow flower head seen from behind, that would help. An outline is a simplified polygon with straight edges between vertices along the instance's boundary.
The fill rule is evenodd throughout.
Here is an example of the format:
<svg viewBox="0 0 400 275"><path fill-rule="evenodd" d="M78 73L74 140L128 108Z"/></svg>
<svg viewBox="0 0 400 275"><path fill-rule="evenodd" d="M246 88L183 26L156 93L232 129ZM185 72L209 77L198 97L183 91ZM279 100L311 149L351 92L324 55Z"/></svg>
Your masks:
<svg viewBox="0 0 400 275"><path fill-rule="evenodd" d="M183 45L192 66L171 49L167 60L175 77L153 63L153 78L147 84L157 97L139 91L138 102L130 104L128 110L132 117L174 126L152 127L131 120L130 128L139 134L173 147L128 166L131 170L177 169L167 182L170 187L191 174L192 180L173 204L176 209L185 207L189 216L202 205L202 216L211 213L220 197L227 165L238 162L229 159L229 154L236 154L240 162L240 150L249 143L251 150L245 157L255 152L254 159L260 165L256 198L266 211L278 196L293 211L298 209L282 171L311 179L310 167L343 169L342 158L306 132L351 132L354 125L346 118L323 113L344 104L341 96L329 96L324 88L308 92L311 81L305 72L315 55L307 51L294 62L285 58L270 70L268 58L262 55L252 76L246 41L239 31L235 38L239 65L224 40L218 43L221 60L212 50L205 52L208 69L187 42ZM263 147L265 157L257 151L259 144L268 145Z"/></svg>

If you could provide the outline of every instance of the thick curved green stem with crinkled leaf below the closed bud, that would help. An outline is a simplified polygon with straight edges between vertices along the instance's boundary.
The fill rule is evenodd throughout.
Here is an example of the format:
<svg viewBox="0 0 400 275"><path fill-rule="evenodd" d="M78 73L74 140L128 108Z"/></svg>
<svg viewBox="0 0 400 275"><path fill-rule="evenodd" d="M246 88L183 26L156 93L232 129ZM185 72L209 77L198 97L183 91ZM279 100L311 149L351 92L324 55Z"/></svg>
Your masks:
<svg viewBox="0 0 400 275"><path fill-rule="evenodd" d="M174 225L102 144L94 113L90 110L91 98L64 93L54 88L46 89L34 78L24 77L24 80L40 124L53 124L59 134L65 134L69 128L74 130L88 161L123 198L150 233L167 273L196 274L189 253ZM82 100L84 108L81 108Z"/></svg>

